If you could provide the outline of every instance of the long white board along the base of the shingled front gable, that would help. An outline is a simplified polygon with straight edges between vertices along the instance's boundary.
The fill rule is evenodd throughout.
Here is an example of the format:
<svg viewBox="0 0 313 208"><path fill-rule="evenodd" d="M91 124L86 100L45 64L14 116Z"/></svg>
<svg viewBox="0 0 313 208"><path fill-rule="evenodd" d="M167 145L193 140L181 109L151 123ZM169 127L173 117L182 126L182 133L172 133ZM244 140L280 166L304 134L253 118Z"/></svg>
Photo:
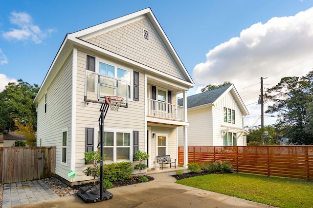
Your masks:
<svg viewBox="0 0 313 208"><path fill-rule="evenodd" d="M116 60L119 60L119 61L122 61L122 62L125 62L125 63L128 63L128 64L132 64L132 65L134 65L136 67L139 67L139 68L141 68L143 70L150 71L150 72L152 72L154 74L157 74L158 76L164 76L164 77L170 78L170 79L172 79L175 82L178 82L178 83L181 83L182 85L188 86L189 88L192 88L192 87L195 86L194 83L190 83L190 82L184 81L182 79L179 79L179 78L177 78L175 76L171 76L169 74L165 74L165 73L160 72L160 71L158 71L156 69L153 69L153 68L151 68L149 66L146 66L146 65L138 63L138 62L136 62L134 60L131 60L131 59L127 58L127 57L120 56L118 54L112 53L111 51L108 51L108 50L105 50L103 48L100 48L100 47L98 47L96 45L90 44L89 42L86 42L86 41L84 41L82 39L76 38L76 37L74 37L72 35L73 34L69 34L68 35L68 39L76 42L79 46L81 46L83 48L86 48L86 49L89 49L89 50L90 49L96 50L96 51L98 51L98 52L100 52L102 54L105 54L105 55L113 58L113 59L116 59Z"/></svg>

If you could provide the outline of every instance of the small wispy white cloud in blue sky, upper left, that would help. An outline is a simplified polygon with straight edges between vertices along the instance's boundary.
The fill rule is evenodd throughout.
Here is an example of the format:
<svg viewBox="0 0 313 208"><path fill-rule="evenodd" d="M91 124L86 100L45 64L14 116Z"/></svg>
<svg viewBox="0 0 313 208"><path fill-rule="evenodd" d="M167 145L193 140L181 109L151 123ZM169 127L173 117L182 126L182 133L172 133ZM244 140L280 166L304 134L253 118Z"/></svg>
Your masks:
<svg viewBox="0 0 313 208"><path fill-rule="evenodd" d="M54 31L52 29L42 31L33 23L31 16L25 12L12 12L9 19L12 24L18 26L18 28L12 28L11 31L2 33L2 36L9 40L31 40L34 43L41 43L48 34Z"/></svg>

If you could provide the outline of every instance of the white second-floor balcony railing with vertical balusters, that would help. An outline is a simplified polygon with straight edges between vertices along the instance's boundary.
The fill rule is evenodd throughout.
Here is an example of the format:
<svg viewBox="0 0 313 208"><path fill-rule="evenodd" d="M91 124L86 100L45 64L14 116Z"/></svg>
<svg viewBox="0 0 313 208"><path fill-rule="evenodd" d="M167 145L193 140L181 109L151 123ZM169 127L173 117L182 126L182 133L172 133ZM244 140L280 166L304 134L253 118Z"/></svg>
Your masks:
<svg viewBox="0 0 313 208"><path fill-rule="evenodd" d="M148 116L170 120L184 121L184 107L147 99Z"/></svg>

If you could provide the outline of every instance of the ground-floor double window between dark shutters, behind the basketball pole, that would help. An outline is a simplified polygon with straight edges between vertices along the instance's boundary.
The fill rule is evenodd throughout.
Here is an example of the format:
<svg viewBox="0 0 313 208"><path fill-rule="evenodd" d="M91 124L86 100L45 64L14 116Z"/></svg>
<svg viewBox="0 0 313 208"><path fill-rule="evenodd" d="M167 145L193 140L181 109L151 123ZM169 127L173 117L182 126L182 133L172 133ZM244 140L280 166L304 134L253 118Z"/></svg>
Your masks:
<svg viewBox="0 0 313 208"><path fill-rule="evenodd" d="M100 142L100 132L97 129L97 138ZM105 130L103 132L103 150L105 162L131 161L132 131Z"/></svg>

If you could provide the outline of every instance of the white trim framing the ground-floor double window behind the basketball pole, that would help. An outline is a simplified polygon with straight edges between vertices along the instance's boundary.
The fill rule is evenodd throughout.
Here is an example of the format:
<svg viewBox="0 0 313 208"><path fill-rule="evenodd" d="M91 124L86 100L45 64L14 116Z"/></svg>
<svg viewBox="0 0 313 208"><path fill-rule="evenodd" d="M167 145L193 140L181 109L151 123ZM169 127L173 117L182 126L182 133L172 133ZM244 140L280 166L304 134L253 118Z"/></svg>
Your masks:
<svg viewBox="0 0 313 208"><path fill-rule="evenodd" d="M107 128L107 127L104 127L103 129L104 132L113 132L113 146L107 146L107 147L113 147L113 161L108 161L106 162L106 160L104 161L104 163L106 164L109 164L109 163L119 163L119 162L133 162L133 130L131 129L115 129L115 128ZM97 150L97 145L98 145L98 132L99 132L99 127L98 126L95 126L94 127L94 147L93 149L94 150ZM122 133L130 133L130 146L123 146L123 147L129 147L130 148L130 160L116 160L116 149L117 147L120 147L120 146L117 146L116 145L116 132L122 132Z"/></svg>

